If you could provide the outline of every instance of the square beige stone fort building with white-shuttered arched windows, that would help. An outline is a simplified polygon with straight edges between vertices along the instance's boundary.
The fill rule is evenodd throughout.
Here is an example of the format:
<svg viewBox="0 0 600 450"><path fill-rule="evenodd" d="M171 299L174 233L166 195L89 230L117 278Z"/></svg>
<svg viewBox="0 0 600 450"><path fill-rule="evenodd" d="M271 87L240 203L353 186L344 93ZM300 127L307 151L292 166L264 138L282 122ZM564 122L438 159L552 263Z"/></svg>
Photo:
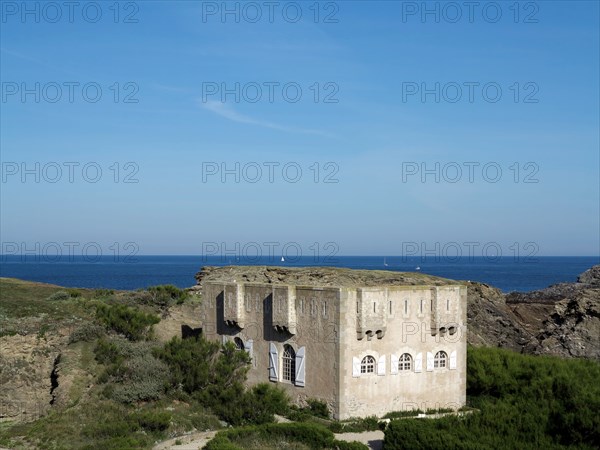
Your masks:
<svg viewBox="0 0 600 450"><path fill-rule="evenodd" d="M466 286L400 272L204 270L202 333L249 352L250 384L323 400L339 420L465 404Z"/></svg>

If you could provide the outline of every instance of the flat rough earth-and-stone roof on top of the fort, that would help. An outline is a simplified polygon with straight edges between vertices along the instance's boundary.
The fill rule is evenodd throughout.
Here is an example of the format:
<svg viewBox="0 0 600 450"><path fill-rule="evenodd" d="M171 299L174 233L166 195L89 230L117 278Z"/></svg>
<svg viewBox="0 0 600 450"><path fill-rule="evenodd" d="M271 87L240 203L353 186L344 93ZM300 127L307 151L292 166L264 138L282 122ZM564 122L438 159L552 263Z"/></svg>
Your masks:
<svg viewBox="0 0 600 450"><path fill-rule="evenodd" d="M253 283L314 287L448 286L462 283L417 272L356 270L341 267L205 266L198 284Z"/></svg>

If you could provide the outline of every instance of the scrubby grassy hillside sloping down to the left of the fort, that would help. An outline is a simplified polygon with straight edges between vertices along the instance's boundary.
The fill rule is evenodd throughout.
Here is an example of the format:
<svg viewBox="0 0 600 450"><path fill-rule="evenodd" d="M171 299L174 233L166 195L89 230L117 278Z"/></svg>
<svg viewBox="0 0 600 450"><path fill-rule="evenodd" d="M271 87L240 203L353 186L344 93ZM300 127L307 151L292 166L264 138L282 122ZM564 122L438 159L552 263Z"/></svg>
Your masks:
<svg viewBox="0 0 600 450"><path fill-rule="evenodd" d="M164 287L114 292L0 278L2 410L33 408L39 410L34 414L43 415L32 422L22 422L18 415L4 417L0 421L0 446L151 448L156 440L189 430L220 428L210 410L179 398L176 392L167 392L166 369L163 379L158 380L158 395L152 399L144 398L148 380L139 379L149 375L149 366L160 365L152 356L153 348L162 346L152 339L152 323L170 305L194 301L197 299L186 298L183 291ZM127 339L127 331L139 339ZM21 338L27 337L31 337L27 343L34 348L21 359L18 347ZM123 352L118 364L99 357L102 343ZM27 378L29 372L43 364L44 353L52 351L60 351L57 370L53 371L56 385L42 380L47 386L36 390L36 383L31 381L37 380ZM11 358L13 353L15 358ZM47 370L36 375L50 378L53 373ZM19 389L30 389L25 397L38 397L41 403L25 405L18 398L13 402L8 395L4 398L10 390L7 386L15 379L17 385L26 384ZM51 396L40 396L44 386L53 390Z"/></svg>

